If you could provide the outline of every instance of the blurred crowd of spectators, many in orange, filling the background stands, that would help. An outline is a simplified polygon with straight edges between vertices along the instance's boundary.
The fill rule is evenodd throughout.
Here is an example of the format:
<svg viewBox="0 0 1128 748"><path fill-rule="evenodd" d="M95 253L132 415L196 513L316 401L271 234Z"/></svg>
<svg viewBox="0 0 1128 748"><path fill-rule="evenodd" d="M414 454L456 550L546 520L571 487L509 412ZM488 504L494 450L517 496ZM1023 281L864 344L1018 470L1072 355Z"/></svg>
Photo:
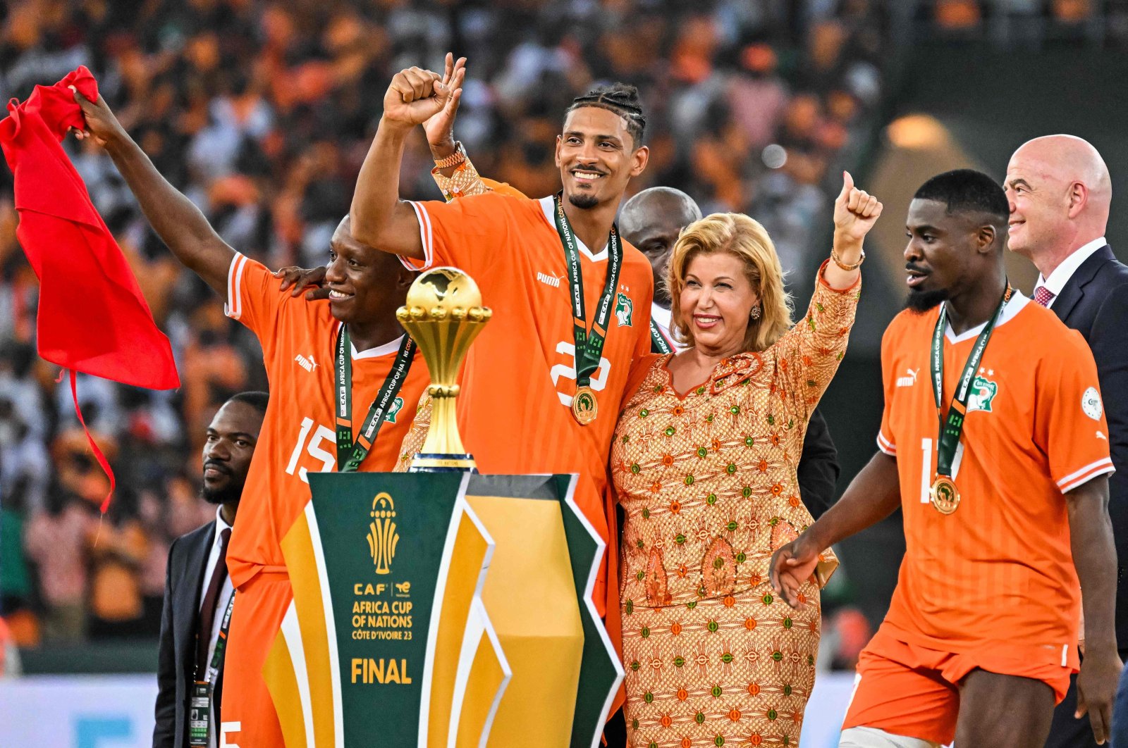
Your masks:
<svg viewBox="0 0 1128 748"><path fill-rule="evenodd" d="M236 249L268 266L326 261L394 72L466 55L456 136L479 171L558 188L553 144L571 99L638 86L650 168L704 212L742 211L784 266L813 270L834 176L882 95L876 0L26 0L8 3L0 89L26 98L79 64L157 168ZM183 380L149 392L65 380L35 355L36 283L0 170L0 612L24 643L156 635L171 538L211 517L196 498L214 409L266 389L257 342L148 229L111 161L67 148L132 262ZM440 198L422 133L404 189ZM852 618L853 621L853 618ZM844 638L860 633L844 624ZM864 641L864 638L862 639ZM849 661L845 666L852 665Z"/></svg>

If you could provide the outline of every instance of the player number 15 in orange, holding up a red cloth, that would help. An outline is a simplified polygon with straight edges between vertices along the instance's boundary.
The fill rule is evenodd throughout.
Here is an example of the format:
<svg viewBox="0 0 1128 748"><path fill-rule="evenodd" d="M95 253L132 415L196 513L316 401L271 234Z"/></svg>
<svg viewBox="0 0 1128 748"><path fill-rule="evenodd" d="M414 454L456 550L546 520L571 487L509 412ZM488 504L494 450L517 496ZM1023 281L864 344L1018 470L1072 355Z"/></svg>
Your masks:
<svg viewBox="0 0 1128 748"><path fill-rule="evenodd" d="M395 317L415 274L353 239L346 217L331 241L328 303L281 293L275 274L227 246L160 176L102 98L76 98L89 136L113 158L153 230L262 344L271 402L227 553L236 604L220 742L276 748L283 739L262 667L292 599L280 542L309 500L309 471L395 466L431 379Z"/></svg>

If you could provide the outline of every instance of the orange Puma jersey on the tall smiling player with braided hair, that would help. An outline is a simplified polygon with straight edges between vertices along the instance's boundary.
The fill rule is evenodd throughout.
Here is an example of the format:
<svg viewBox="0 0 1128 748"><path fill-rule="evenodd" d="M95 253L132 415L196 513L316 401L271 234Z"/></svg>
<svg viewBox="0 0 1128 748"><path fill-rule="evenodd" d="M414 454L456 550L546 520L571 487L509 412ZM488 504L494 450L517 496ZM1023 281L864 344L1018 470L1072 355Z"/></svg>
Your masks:
<svg viewBox="0 0 1128 748"><path fill-rule="evenodd" d="M493 319L470 347L462 371L459 429L483 473L581 474L576 502L607 540L607 455L632 362L650 351L653 274L642 252L623 244L623 265L599 367L594 422L572 417L575 340L564 249L552 197L487 193L451 203L412 203L424 260L450 265L477 282ZM607 248L576 239L590 330L607 279ZM602 606L602 591L596 594Z"/></svg>

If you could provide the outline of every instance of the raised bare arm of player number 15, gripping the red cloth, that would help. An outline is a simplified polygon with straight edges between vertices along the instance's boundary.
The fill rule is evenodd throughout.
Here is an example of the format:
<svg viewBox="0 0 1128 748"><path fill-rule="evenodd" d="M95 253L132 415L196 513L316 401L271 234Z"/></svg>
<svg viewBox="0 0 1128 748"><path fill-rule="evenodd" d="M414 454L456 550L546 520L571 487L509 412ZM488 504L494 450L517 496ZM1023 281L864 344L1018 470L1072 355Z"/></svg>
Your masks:
<svg viewBox="0 0 1128 748"><path fill-rule="evenodd" d="M90 101L74 91L74 100L82 107L87 126L78 137L92 137L106 149L152 230L173 250L176 259L217 293L227 295L227 270L235 250L220 239L200 208L160 176L100 96L97 101Z"/></svg>

